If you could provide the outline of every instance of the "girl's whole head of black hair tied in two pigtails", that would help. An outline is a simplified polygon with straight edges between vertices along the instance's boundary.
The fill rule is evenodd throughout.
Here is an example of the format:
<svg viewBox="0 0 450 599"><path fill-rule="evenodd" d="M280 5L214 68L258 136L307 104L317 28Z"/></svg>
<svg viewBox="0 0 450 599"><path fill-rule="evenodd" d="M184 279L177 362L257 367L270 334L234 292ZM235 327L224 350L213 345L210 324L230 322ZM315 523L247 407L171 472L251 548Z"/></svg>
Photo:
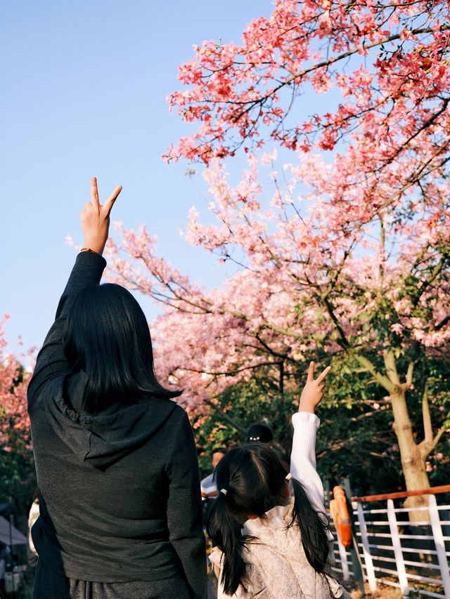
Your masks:
<svg viewBox="0 0 450 599"><path fill-rule="evenodd" d="M221 583L228 595L236 593L239 584L245 588L248 576L245 546L255 539L243 534L243 522L249 515L262 518L271 508L285 505L286 474L274 450L260 443L231 449L216 466L217 489L224 489L226 494L219 492L212 503L206 529L212 544L224 553ZM326 517L311 506L300 482L294 478L290 482L294 506L288 527L300 527L307 560L316 572L322 572L328 557Z"/></svg>

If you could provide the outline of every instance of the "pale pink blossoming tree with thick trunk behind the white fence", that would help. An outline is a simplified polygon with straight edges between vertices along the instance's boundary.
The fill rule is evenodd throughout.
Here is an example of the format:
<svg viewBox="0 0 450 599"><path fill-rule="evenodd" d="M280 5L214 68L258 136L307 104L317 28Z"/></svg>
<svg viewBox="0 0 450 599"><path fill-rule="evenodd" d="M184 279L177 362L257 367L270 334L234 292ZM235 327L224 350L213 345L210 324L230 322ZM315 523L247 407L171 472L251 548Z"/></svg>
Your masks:
<svg viewBox="0 0 450 599"><path fill-rule="evenodd" d="M354 176L347 157L332 165L311 153L297 160L276 171L265 155L264 176L251 156L236 187L224 164L205 171L218 224L202 225L191 210L186 237L238 267L221 289L200 289L158 258L145 228L122 231L131 261L110 244L110 266L122 283L165 304L155 322L157 371L188 390L188 407L214 409L214 397L255 371L293 388L311 357L347 355L349 376L363 371L374 396L389 398L407 487L425 488L425 461L448 427L442 418L432 428L427 364L450 358L449 183L436 177L423 194L411 191L408 204L380 209L364 202L361 186L342 197ZM420 441L406 401L414 385L423 403ZM446 389L448 399L448 381Z"/></svg>

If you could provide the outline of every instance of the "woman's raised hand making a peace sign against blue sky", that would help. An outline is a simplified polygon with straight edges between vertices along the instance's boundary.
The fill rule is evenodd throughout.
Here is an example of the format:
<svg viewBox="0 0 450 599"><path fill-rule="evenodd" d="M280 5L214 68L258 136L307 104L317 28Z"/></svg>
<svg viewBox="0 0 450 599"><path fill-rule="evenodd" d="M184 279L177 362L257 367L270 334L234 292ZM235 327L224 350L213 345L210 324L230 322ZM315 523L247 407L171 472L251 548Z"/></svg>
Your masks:
<svg viewBox="0 0 450 599"><path fill-rule="evenodd" d="M79 218L82 221L84 247L96 251L97 254L103 254L105 249L110 228L110 212L121 191L122 185L118 185L102 205L98 199L97 180L95 177L91 178L91 202L84 204Z"/></svg>

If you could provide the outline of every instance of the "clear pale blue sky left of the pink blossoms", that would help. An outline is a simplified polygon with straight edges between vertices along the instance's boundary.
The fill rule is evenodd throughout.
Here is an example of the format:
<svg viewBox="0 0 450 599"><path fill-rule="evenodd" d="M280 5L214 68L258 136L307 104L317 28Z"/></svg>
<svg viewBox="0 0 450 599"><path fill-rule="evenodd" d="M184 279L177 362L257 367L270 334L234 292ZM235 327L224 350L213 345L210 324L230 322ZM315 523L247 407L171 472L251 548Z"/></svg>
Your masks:
<svg viewBox="0 0 450 599"><path fill-rule="evenodd" d="M169 114L177 67L204 39L239 41L269 0L20 0L0 5L0 315L11 350L40 345L81 242L89 180L124 187L115 218L144 223L160 254L208 287L223 272L179 235L198 191L160 154L186 134ZM148 317L155 314L143 301Z"/></svg>

